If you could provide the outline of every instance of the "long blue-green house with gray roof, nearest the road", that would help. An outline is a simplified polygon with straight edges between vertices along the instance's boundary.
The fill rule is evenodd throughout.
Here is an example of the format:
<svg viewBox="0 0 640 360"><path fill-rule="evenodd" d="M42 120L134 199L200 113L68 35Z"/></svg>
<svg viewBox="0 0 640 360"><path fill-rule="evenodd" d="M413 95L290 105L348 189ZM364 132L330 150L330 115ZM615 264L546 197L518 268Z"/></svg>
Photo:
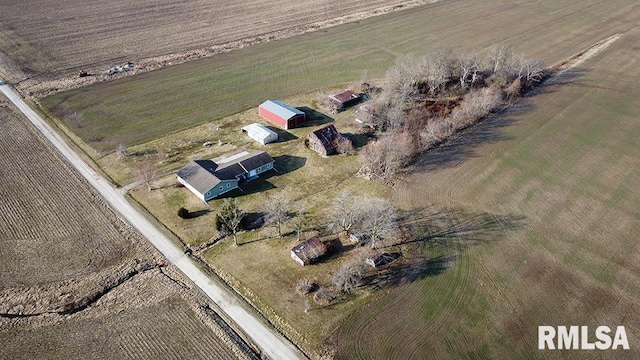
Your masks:
<svg viewBox="0 0 640 360"><path fill-rule="evenodd" d="M178 182L207 202L273 169L273 163L264 151L195 160L178 170Z"/></svg>

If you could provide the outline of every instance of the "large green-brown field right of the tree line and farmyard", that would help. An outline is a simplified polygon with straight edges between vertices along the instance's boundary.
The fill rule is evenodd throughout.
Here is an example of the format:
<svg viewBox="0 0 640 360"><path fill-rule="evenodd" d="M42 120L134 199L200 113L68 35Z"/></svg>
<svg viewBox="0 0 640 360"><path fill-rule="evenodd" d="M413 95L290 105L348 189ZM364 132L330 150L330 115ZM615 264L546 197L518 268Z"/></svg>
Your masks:
<svg viewBox="0 0 640 360"><path fill-rule="evenodd" d="M422 158L398 204L509 215L520 229L354 313L339 354L638 358L639 36ZM539 325L587 325L591 336L623 325L631 350L539 351Z"/></svg>

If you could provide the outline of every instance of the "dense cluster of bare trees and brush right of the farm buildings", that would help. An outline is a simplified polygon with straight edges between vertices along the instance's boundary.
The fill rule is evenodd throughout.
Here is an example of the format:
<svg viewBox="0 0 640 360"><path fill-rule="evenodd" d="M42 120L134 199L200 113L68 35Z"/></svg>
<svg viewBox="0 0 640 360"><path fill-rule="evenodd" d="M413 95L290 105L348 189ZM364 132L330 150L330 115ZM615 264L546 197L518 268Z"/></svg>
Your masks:
<svg viewBox="0 0 640 360"><path fill-rule="evenodd" d="M485 56L436 49L399 57L380 91L358 111L376 140L360 152L359 175L389 180L422 151L506 106L547 76L512 46Z"/></svg>

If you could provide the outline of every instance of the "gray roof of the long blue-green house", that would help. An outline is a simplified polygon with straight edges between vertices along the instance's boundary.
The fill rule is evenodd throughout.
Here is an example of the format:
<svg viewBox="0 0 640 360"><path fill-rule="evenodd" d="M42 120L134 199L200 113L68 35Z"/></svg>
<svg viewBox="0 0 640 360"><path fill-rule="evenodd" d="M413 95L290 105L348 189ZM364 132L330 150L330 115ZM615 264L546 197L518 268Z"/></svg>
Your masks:
<svg viewBox="0 0 640 360"><path fill-rule="evenodd" d="M264 151L243 151L211 160L195 160L178 171L178 176L204 194L222 181L236 180L260 166L273 162Z"/></svg>

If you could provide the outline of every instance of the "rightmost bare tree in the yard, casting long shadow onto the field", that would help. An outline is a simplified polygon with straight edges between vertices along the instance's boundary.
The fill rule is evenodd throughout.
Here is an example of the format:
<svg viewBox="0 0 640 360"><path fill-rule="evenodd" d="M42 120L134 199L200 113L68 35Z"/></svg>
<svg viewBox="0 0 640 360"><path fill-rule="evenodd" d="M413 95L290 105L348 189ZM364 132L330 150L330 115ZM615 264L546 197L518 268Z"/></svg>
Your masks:
<svg viewBox="0 0 640 360"><path fill-rule="evenodd" d="M372 249L376 248L378 242L397 234L398 214L389 201L381 198L364 198L360 201L360 208L363 212L360 230L369 237Z"/></svg>

